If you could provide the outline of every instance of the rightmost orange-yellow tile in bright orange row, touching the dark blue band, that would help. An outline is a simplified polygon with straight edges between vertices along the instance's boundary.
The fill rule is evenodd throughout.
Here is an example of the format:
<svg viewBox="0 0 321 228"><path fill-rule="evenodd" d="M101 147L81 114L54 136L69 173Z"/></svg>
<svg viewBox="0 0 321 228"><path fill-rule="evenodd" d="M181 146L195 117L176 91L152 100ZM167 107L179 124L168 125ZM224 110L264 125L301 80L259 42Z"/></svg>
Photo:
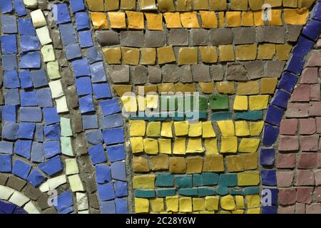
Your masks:
<svg viewBox="0 0 321 228"><path fill-rule="evenodd" d="M307 22L307 16L309 16L308 9L283 9L285 24L301 24L304 25Z"/></svg>

